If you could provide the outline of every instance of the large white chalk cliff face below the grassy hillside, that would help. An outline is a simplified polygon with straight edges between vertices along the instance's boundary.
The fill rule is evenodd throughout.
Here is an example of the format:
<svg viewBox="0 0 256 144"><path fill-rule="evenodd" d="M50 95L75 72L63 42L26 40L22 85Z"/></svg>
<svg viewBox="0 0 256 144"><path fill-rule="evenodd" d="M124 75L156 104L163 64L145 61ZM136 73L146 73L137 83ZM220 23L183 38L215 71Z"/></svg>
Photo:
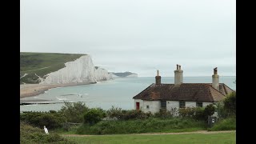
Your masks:
<svg viewBox="0 0 256 144"><path fill-rule="evenodd" d="M89 83L109 79L112 79L112 74L100 67L95 68L90 55L83 55L73 62L66 62L64 68L46 74L40 84Z"/></svg>

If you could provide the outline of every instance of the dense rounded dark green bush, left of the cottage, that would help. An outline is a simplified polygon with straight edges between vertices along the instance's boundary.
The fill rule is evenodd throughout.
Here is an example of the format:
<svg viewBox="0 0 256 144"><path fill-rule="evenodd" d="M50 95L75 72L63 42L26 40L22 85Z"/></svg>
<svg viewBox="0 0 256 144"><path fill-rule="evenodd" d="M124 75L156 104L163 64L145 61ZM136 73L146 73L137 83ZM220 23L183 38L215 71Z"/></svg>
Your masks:
<svg viewBox="0 0 256 144"><path fill-rule="evenodd" d="M89 123L94 125L97 122L100 122L102 118L106 115L101 109L90 109L86 114L84 114L84 123Z"/></svg>

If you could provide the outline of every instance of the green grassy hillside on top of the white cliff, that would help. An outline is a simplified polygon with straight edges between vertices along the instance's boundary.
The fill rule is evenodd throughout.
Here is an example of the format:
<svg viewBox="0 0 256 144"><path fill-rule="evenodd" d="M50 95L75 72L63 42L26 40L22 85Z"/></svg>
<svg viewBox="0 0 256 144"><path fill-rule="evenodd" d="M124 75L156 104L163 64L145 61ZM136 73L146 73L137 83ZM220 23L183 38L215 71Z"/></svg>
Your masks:
<svg viewBox="0 0 256 144"><path fill-rule="evenodd" d="M62 69L64 63L74 61L86 54L58 54L58 53L20 53L20 77L24 74L26 77L20 79L20 83L37 83L38 76L43 77L50 72ZM47 67L47 68L46 68ZM43 68L43 69L42 69ZM41 69L41 70L37 70Z"/></svg>

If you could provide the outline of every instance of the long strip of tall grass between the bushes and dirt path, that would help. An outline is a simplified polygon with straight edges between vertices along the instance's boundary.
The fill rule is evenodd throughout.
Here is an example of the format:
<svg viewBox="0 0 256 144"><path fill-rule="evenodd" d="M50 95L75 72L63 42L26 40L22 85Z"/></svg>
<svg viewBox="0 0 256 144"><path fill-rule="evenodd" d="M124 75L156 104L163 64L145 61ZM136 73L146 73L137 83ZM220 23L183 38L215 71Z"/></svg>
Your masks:
<svg viewBox="0 0 256 144"><path fill-rule="evenodd" d="M101 121L93 126L85 123L78 128L77 134L133 134L195 130L206 130L206 122L192 118L147 118Z"/></svg>

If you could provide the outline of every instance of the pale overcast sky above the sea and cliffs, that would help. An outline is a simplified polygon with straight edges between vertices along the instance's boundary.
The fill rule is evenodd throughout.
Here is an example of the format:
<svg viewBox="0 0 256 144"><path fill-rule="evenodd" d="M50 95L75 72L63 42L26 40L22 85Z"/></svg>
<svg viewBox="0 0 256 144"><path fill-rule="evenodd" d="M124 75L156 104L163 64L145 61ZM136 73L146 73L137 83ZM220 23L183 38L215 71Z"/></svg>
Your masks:
<svg viewBox="0 0 256 144"><path fill-rule="evenodd" d="M20 51L90 54L139 77L236 75L234 0L21 0Z"/></svg>

